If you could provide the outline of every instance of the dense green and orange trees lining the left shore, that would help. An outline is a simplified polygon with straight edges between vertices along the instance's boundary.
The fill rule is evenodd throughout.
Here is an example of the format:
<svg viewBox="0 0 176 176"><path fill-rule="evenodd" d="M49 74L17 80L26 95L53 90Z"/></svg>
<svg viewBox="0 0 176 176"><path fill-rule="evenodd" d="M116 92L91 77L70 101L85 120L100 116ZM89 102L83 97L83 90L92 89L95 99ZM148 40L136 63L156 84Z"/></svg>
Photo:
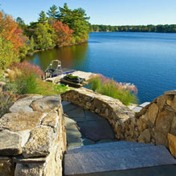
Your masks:
<svg viewBox="0 0 176 176"><path fill-rule="evenodd" d="M26 25L0 11L0 68L18 62L38 50L80 44L88 40L90 24L82 8L53 5L39 13L38 21Z"/></svg>

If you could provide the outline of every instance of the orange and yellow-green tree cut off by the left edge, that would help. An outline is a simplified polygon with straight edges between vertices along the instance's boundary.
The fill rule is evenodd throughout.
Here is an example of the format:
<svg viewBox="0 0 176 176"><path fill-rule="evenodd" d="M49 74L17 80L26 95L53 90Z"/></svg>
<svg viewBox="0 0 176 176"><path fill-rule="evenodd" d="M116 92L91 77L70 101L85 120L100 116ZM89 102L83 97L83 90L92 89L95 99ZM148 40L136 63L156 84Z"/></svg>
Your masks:
<svg viewBox="0 0 176 176"><path fill-rule="evenodd" d="M27 53L27 37L18 23L9 15L0 12L0 68L19 61Z"/></svg>

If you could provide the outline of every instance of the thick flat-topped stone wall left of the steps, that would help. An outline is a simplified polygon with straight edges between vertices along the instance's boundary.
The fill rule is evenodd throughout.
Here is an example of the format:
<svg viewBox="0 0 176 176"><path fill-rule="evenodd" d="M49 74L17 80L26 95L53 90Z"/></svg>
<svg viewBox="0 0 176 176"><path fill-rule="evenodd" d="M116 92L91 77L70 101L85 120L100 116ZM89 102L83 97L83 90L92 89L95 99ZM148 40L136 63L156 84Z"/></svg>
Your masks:
<svg viewBox="0 0 176 176"><path fill-rule="evenodd" d="M1 176L61 176L66 135L60 97L31 95L0 118Z"/></svg>

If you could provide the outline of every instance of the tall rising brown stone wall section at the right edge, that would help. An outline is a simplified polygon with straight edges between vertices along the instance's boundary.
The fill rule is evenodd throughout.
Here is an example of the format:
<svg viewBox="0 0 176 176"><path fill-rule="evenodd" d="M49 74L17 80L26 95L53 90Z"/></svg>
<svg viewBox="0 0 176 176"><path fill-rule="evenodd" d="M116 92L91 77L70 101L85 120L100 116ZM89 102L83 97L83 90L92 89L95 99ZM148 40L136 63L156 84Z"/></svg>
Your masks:
<svg viewBox="0 0 176 176"><path fill-rule="evenodd" d="M136 122L139 142L168 147L171 138L168 136L176 135L176 91L166 92L152 101L136 114Z"/></svg>

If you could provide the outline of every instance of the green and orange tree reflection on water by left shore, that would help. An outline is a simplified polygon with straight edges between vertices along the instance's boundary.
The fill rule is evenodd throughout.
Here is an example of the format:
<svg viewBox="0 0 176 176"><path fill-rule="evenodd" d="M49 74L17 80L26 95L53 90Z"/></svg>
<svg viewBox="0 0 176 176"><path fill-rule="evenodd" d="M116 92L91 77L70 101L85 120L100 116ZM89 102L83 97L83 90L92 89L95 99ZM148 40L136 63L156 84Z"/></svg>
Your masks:
<svg viewBox="0 0 176 176"><path fill-rule="evenodd" d="M26 59L31 63L39 65L43 70L47 68L52 60L57 59L62 62L62 67L75 68L79 67L79 65L84 62L87 55L87 48L87 43L59 49L55 48L35 53L33 56L28 56Z"/></svg>

